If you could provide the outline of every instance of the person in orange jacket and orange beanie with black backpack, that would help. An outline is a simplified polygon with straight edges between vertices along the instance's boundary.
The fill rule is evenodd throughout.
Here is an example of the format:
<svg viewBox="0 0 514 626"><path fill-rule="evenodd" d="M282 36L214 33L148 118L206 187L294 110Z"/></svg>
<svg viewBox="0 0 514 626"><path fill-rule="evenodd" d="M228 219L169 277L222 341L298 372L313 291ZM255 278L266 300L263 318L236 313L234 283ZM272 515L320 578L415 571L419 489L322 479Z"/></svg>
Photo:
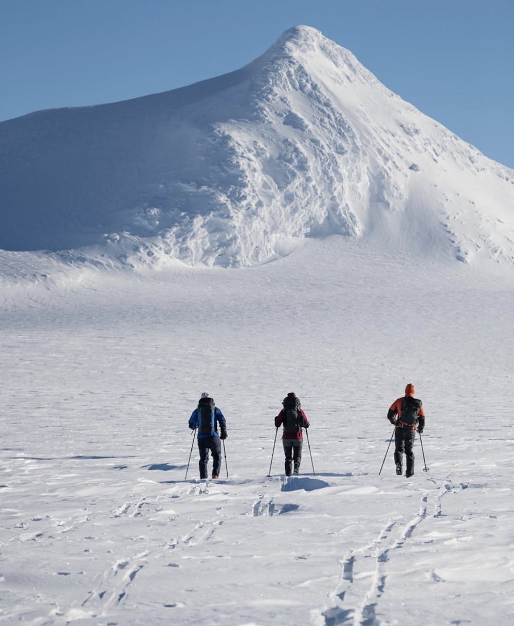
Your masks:
<svg viewBox="0 0 514 626"><path fill-rule="evenodd" d="M423 403L414 397L414 385L410 382L405 387L405 396L398 398L391 404L387 412L387 419L396 426L395 429L395 464L396 474L401 476L403 451L407 458L405 476L409 478L414 473L414 453L412 446L416 438L416 425L418 433L423 433L425 428L425 411Z"/></svg>

